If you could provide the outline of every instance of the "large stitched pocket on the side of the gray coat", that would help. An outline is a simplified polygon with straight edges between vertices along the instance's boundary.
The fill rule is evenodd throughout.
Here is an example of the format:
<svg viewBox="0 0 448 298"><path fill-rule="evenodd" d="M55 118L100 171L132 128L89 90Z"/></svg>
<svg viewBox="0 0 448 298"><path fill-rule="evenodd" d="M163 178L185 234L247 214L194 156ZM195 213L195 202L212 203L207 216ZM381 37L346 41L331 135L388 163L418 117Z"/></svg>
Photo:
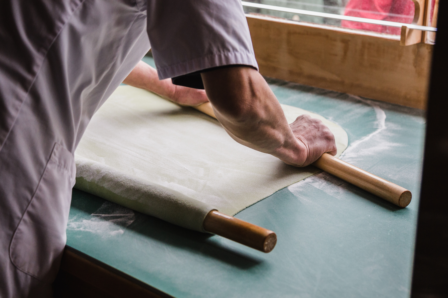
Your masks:
<svg viewBox="0 0 448 298"><path fill-rule="evenodd" d="M13 264L41 281L51 282L59 269L75 176L72 153L55 143L11 240L9 256Z"/></svg>

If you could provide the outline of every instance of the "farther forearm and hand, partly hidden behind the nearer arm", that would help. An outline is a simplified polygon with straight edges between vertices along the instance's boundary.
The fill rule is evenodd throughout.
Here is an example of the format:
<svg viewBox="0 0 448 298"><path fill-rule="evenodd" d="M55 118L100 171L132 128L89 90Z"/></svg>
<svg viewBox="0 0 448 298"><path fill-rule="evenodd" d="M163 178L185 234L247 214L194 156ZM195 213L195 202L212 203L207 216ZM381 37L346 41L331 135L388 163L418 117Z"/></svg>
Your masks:
<svg viewBox="0 0 448 298"><path fill-rule="evenodd" d="M179 105L195 106L208 101L204 90L177 86L171 79L159 80L157 71L143 61L138 62L123 83L154 92Z"/></svg>

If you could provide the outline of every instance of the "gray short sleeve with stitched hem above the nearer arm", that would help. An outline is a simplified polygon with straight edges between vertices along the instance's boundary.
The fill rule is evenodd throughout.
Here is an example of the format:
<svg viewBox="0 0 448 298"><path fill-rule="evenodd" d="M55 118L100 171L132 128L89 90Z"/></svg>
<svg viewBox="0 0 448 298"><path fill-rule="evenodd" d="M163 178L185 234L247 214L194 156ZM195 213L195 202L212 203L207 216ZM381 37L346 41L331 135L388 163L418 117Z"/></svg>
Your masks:
<svg viewBox="0 0 448 298"><path fill-rule="evenodd" d="M258 69L240 0L150 0L147 20L160 79L230 64Z"/></svg>

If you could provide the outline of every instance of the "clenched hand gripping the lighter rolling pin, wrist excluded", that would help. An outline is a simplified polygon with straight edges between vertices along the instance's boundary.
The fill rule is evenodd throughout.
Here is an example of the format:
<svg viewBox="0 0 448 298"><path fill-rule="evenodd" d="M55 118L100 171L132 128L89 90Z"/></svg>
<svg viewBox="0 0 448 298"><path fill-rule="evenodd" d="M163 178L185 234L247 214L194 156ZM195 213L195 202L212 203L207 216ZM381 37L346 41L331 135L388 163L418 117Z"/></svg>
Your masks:
<svg viewBox="0 0 448 298"><path fill-rule="evenodd" d="M323 153L336 155L336 141L333 133L323 122L310 115L303 114L290 124L294 136L306 148L306 160L302 167L312 164Z"/></svg>

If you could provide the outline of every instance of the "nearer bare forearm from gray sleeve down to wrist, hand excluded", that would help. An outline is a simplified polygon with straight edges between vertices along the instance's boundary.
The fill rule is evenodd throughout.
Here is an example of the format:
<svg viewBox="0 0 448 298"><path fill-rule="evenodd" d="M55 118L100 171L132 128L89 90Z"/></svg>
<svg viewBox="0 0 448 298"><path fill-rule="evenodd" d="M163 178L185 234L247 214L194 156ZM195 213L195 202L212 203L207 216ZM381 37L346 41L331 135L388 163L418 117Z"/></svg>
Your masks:
<svg viewBox="0 0 448 298"><path fill-rule="evenodd" d="M275 95L250 67L228 67L202 73L215 114L237 142L272 154L289 164L306 152L297 142Z"/></svg>

